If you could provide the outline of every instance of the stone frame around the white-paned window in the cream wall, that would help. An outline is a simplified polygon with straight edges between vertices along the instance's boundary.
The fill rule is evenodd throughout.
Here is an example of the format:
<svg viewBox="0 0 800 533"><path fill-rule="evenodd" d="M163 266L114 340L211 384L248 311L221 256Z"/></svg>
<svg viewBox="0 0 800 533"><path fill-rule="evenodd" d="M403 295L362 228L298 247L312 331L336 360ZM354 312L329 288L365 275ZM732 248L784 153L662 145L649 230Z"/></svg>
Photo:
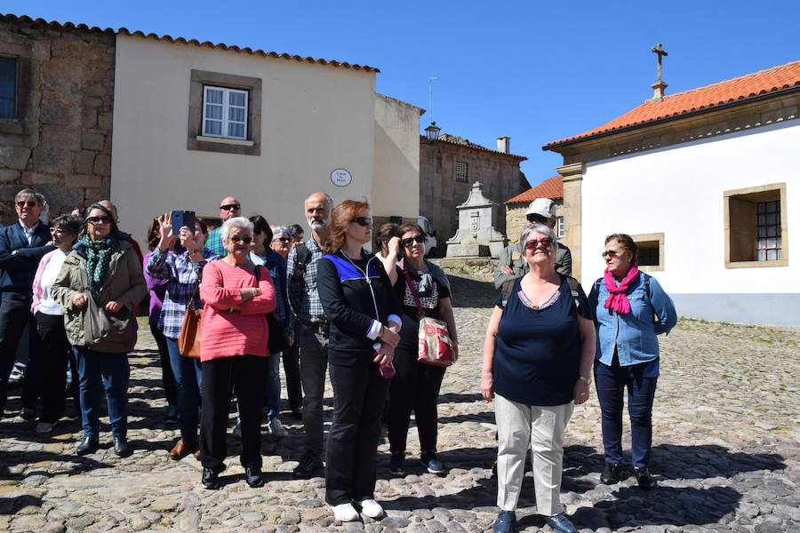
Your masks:
<svg viewBox="0 0 800 533"><path fill-rule="evenodd" d="M220 154L261 155L261 78L192 69L189 83L188 150ZM204 86L248 91L247 137L244 140L203 135Z"/></svg>

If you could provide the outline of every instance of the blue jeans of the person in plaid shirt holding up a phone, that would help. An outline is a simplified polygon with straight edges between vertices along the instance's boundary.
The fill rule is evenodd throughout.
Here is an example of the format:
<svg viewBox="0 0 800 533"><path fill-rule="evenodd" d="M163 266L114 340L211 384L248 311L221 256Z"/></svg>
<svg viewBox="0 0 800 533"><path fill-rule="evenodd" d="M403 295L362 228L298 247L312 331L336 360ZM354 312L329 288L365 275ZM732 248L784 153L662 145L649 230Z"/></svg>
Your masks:
<svg viewBox="0 0 800 533"><path fill-rule="evenodd" d="M200 408L200 387L203 386L200 360L181 355L177 338L165 338L178 396L180 438L186 443L197 442L197 425L200 422L197 410Z"/></svg>

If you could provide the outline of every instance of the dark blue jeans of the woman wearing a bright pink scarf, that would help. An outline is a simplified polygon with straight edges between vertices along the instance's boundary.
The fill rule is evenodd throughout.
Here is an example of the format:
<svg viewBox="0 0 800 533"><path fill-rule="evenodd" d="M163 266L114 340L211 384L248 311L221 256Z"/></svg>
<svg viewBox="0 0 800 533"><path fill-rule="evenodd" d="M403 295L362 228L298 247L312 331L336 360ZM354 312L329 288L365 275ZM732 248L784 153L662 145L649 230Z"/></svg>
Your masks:
<svg viewBox="0 0 800 533"><path fill-rule="evenodd" d="M616 357L611 366L595 362L595 382L602 413L606 463L622 462L623 394L627 388L631 462L639 468L650 464L652 401L659 378L644 375L644 367L648 364L644 362L620 367Z"/></svg>

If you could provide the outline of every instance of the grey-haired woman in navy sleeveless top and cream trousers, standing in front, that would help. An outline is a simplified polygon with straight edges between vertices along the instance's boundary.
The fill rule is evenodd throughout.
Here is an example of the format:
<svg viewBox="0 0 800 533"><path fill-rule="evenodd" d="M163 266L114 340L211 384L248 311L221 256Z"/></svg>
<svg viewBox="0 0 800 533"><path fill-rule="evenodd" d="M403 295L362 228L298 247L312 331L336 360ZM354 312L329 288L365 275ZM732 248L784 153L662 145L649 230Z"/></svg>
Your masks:
<svg viewBox="0 0 800 533"><path fill-rule="evenodd" d="M588 400L595 328L580 284L556 273L556 235L532 224L519 237L528 273L495 302L484 339L481 394L494 398L497 505L494 531L516 531L527 449L537 512L556 533L574 533L559 499L564 428Z"/></svg>

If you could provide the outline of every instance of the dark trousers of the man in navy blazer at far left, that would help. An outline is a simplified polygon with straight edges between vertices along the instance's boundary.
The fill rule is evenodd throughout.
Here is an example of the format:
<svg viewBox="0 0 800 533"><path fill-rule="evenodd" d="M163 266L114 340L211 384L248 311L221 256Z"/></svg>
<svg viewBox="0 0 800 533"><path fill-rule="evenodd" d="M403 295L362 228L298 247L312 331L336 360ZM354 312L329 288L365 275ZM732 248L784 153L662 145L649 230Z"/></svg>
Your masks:
<svg viewBox="0 0 800 533"><path fill-rule="evenodd" d="M17 357L17 346L28 326L28 346L36 346L36 322L30 312L31 298L5 292L0 299L0 412L5 409L8 377Z"/></svg>

